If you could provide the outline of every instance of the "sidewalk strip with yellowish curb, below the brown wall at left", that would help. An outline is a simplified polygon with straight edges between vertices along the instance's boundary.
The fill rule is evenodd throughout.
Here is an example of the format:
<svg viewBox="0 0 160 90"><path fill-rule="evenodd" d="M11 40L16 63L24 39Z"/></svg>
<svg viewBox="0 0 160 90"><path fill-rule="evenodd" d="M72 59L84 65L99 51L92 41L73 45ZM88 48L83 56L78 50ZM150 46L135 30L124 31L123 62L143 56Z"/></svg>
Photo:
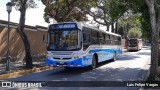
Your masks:
<svg viewBox="0 0 160 90"><path fill-rule="evenodd" d="M33 69L26 69L25 64L23 62L11 62L10 72L5 71L5 69L6 64L0 64L0 80L39 72L43 70L49 70L52 69L52 67L46 66L45 62L33 62Z"/></svg>

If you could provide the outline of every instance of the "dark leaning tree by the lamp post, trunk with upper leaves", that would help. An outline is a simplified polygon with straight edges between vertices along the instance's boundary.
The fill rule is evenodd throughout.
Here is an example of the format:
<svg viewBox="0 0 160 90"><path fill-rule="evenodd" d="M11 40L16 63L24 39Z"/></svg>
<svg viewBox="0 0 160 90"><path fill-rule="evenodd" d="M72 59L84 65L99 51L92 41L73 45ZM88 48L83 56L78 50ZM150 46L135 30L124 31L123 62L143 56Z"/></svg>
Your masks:
<svg viewBox="0 0 160 90"><path fill-rule="evenodd" d="M35 8L36 3L34 2L34 0L11 0L11 1L14 3L16 9L20 11L20 19L17 31L25 47L26 68L33 68L32 57L30 52L30 43L28 41L27 35L24 32L24 27L25 27L26 9Z"/></svg>

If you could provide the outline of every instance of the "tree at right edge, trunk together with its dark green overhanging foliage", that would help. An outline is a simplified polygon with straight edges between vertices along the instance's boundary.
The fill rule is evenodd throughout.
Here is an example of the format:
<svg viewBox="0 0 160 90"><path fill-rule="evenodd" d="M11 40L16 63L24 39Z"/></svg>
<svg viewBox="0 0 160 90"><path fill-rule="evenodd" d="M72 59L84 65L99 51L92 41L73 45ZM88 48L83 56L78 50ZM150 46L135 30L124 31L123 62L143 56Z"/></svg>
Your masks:
<svg viewBox="0 0 160 90"><path fill-rule="evenodd" d="M151 76L155 76L157 74L157 67L158 67L158 49L159 48L159 44L158 44L158 40L159 40L159 22L160 22L160 8L159 8L159 2L157 2L158 0L115 0L118 2L117 5L120 6L123 5L123 7L126 7L127 9L124 11L118 10L117 5L115 5L116 7L112 8L112 9L117 9L115 10L115 12L113 11L112 14L110 14L112 16L112 18L115 17L120 17L122 16L124 12L128 11L128 10L132 10L134 13L141 13L142 14L142 21L144 23L144 21L148 21L147 19L150 19L147 25L142 25L142 27L144 26L144 28L142 29L147 29L147 32L151 32L151 70L150 70L150 75ZM121 9L121 8L119 8ZM116 13L116 14L115 14ZM122 14L122 15L121 15ZM148 14L145 15L145 14ZM144 15L144 16L143 16ZM151 27L151 28L150 28ZM149 30L151 29L151 30ZM145 30L142 30L145 31ZM143 32L142 32L143 33Z"/></svg>

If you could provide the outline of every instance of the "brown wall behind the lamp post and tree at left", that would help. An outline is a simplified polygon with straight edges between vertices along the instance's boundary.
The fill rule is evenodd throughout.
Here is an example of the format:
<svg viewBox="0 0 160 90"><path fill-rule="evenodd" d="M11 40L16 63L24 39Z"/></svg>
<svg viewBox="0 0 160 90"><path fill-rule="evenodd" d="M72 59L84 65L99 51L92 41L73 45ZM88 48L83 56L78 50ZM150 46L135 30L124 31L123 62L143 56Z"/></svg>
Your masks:
<svg viewBox="0 0 160 90"><path fill-rule="evenodd" d="M43 42L43 35L47 35L47 31L35 28L26 28L25 33L30 42L32 56L45 55L46 43ZM5 60L7 53L8 29L6 26L0 26L0 62ZM12 60L23 60L24 45L17 33L16 28L12 27L10 31L10 53Z"/></svg>

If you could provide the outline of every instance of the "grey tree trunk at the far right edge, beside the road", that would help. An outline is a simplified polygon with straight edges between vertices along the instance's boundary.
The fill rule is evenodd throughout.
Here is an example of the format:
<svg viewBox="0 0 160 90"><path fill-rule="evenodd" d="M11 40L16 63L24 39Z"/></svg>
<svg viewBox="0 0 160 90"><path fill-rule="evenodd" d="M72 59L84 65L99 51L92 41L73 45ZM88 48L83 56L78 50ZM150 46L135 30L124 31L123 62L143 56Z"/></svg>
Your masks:
<svg viewBox="0 0 160 90"><path fill-rule="evenodd" d="M159 33L158 28L156 28L156 14L155 14L155 0L146 0L147 6L149 8L149 14L150 14L150 21L151 21L151 67L150 67L150 76L157 75L157 69L158 69L158 39L159 39Z"/></svg>

